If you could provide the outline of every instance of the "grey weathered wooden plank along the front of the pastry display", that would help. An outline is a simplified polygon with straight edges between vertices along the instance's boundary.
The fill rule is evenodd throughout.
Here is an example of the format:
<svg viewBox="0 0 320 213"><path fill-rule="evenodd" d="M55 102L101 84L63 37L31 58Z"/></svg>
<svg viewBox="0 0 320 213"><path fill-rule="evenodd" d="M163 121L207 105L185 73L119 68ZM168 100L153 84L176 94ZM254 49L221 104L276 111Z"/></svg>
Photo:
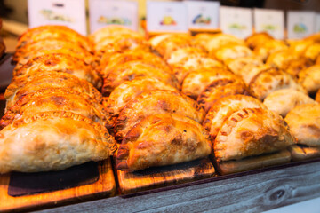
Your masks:
<svg viewBox="0 0 320 213"><path fill-rule="evenodd" d="M212 177L41 212L261 212L320 197L320 160Z"/></svg>

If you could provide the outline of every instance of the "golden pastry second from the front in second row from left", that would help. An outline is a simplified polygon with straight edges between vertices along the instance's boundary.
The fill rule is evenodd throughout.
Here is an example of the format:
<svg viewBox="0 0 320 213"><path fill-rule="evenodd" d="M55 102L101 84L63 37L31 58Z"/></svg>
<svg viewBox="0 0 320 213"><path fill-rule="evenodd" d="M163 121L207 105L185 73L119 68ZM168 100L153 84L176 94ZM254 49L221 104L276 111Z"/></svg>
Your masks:
<svg viewBox="0 0 320 213"><path fill-rule="evenodd" d="M180 114L196 122L204 121L204 110L196 101L178 91L147 91L132 99L116 119L114 131L117 140L143 118L151 114Z"/></svg>

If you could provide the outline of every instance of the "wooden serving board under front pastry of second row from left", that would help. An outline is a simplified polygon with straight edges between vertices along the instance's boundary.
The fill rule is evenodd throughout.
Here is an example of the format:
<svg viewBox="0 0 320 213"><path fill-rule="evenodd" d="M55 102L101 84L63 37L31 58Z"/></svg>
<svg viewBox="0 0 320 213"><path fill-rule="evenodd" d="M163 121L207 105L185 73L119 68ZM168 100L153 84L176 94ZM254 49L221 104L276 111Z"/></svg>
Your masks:
<svg viewBox="0 0 320 213"><path fill-rule="evenodd" d="M116 173L119 189L123 194L216 176L209 158L137 172L116 170Z"/></svg>

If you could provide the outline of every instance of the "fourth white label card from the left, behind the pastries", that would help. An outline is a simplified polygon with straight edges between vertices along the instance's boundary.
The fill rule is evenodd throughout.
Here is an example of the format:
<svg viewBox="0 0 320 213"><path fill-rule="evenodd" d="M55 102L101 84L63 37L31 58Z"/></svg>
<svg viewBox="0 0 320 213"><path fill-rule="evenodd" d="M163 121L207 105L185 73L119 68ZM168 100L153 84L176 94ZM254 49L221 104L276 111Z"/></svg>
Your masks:
<svg viewBox="0 0 320 213"><path fill-rule="evenodd" d="M218 28L220 2L187 1L189 29Z"/></svg>

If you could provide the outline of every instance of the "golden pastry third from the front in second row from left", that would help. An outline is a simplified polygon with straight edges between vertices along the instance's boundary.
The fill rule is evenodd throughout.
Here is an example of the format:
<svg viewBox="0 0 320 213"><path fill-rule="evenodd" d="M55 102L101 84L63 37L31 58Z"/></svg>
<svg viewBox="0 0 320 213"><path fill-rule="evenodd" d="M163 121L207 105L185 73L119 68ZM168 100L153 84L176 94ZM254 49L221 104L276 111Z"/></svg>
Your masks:
<svg viewBox="0 0 320 213"><path fill-rule="evenodd" d="M116 117L130 100L135 99L142 92L156 90L177 91L171 85L152 77L138 77L132 81L121 83L108 97L108 113L112 117Z"/></svg>

